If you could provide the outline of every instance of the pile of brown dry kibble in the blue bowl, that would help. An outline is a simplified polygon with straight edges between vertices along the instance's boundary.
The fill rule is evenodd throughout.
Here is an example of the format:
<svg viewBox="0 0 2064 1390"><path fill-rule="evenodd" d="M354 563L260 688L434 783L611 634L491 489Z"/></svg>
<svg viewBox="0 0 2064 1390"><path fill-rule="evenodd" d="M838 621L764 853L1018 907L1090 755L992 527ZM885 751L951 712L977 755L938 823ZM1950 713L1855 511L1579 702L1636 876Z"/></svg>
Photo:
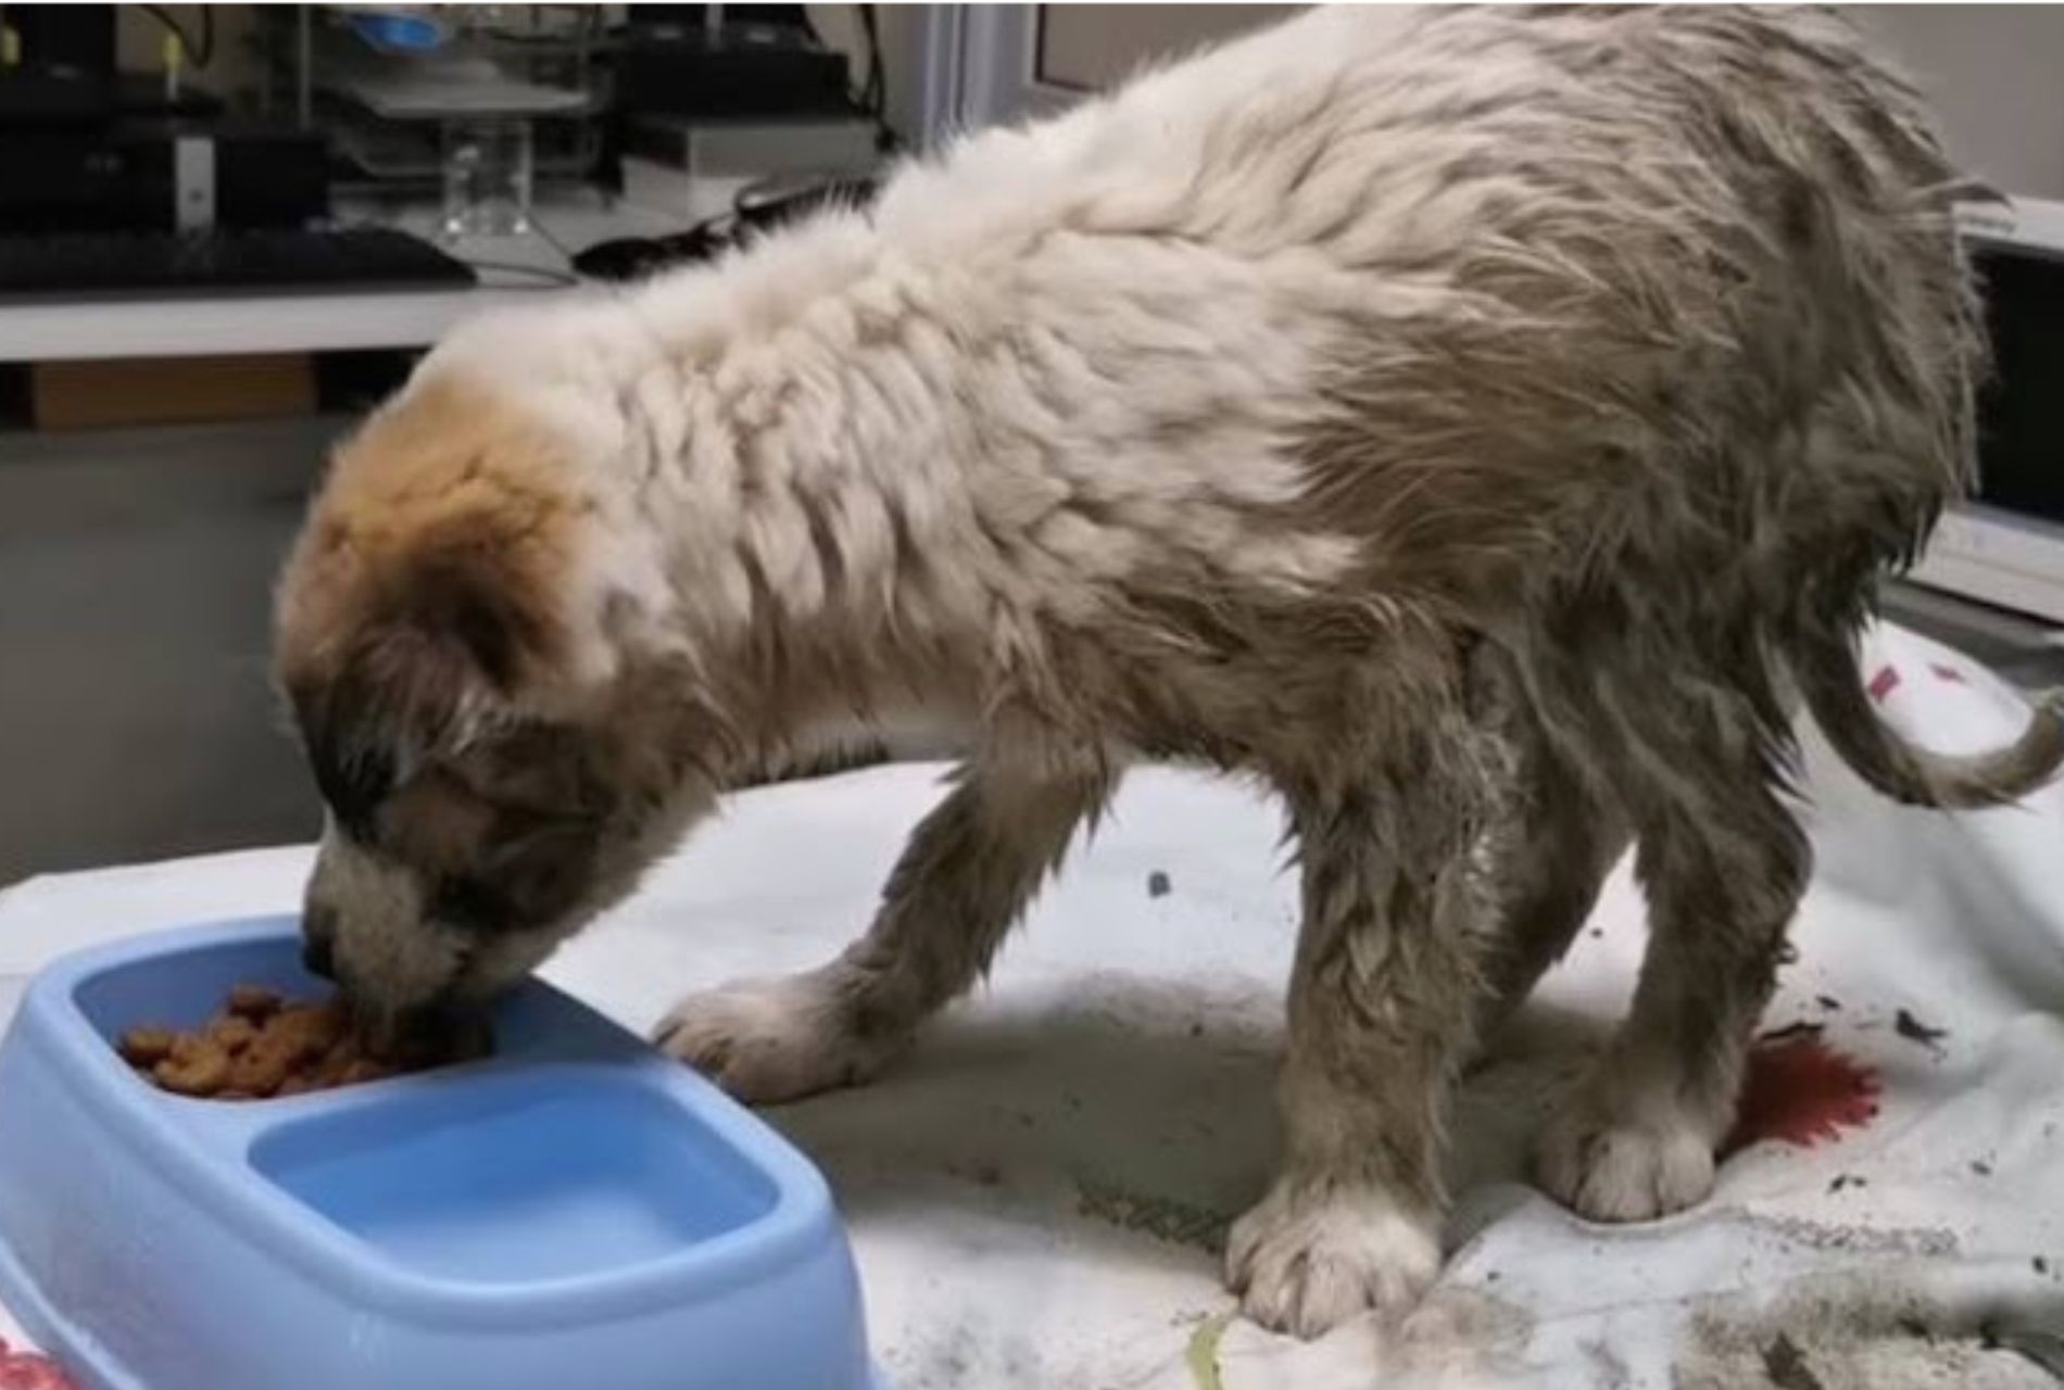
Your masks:
<svg viewBox="0 0 2064 1390"><path fill-rule="evenodd" d="M178 1095L248 1101L351 1087L446 1062L485 1056L483 1037L452 1037L448 1046L413 1048L376 1058L338 1000L295 1004L275 990L237 986L219 1015L182 1033L136 1027L118 1039L136 1074Z"/></svg>

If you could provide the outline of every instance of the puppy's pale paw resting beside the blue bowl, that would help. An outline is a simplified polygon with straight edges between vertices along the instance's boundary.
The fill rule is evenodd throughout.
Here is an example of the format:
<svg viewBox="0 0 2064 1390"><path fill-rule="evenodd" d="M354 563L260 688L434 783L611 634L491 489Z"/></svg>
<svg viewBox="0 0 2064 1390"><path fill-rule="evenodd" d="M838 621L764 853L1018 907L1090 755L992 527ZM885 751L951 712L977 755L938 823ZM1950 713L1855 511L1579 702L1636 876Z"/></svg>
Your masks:
<svg viewBox="0 0 2064 1390"><path fill-rule="evenodd" d="M652 1039L741 1101L770 1105L861 1085L896 1056L900 1039L859 1035L836 969L689 994Z"/></svg>

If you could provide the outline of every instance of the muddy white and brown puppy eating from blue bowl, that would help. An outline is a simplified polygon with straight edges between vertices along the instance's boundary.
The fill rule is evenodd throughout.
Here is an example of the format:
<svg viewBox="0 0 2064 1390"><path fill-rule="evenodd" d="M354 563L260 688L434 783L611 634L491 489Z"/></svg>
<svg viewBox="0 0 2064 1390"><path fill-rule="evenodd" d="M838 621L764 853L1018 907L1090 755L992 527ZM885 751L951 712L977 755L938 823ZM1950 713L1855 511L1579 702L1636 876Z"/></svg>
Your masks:
<svg viewBox="0 0 2064 1390"><path fill-rule="evenodd" d="M865 936L660 1031L809 1095L987 969L1131 763L1185 759L1271 784L1302 872L1251 1316L1432 1281L1455 1070L1628 841L1649 957L1540 1178L1697 1202L1808 876L1792 703L1915 804L2064 757L2050 709L1920 753L1856 666L1971 466L1953 192L1829 14L1321 10L871 214L462 328L279 592L330 810L310 959L386 1027L485 1000L753 767L952 730Z"/></svg>

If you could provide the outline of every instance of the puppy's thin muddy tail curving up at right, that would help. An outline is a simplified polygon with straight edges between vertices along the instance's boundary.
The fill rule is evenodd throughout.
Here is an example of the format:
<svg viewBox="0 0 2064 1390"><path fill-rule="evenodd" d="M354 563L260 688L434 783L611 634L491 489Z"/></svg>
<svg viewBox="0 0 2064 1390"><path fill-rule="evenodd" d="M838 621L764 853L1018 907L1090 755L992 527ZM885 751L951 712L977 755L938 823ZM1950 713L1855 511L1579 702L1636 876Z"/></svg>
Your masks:
<svg viewBox="0 0 2064 1390"><path fill-rule="evenodd" d="M2056 691L2037 701L2035 718L2014 742L1948 757L1915 749L1886 728L1864 689L1856 643L1823 629L1789 643L1785 664L1841 761L1907 806L2002 806L2047 784L2064 765L2064 705Z"/></svg>

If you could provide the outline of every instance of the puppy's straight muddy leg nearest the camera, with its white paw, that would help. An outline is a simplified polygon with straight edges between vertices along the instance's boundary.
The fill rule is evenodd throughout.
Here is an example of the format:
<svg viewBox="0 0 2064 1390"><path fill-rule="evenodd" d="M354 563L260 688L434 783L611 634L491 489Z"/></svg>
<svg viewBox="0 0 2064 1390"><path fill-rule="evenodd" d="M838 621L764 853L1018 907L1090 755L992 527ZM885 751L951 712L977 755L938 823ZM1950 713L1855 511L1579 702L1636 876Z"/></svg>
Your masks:
<svg viewBox="0 0 2064 1390"><path fill-rule="evenodd" d="M1439 1272L1441 1128L1482 951L1468 821L1426 784L1292 794L1304 926L1284 1163L1226 1250L1228 1281L1269 1328L1317 1336L1404 1312Z"/></svg>

